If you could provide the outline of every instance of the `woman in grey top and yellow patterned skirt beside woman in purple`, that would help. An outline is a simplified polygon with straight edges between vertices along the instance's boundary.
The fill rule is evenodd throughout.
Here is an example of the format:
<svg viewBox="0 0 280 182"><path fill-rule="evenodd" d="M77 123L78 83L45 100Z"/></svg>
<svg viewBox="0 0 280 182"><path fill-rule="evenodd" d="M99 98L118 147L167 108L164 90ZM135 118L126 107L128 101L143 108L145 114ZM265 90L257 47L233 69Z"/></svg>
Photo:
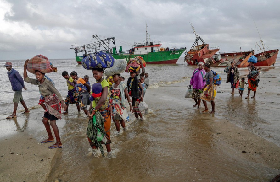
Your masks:
<svg viewBox="0 0 280 182"><path fill-rule="evenodd" d="M217 90L217 86L216 84L213 83L213 78L214 78L214 74L213 72L210 70L210 64L209 63L205 63L204 64L204 70L206 72L205 74L205 79L206 79L206 84L204 85L204 87L202 88L203 93L201 96L202 102L204 104L204 112L208 112L208 107L207 107L207 103L211 102L211 106L212 106L212 111L209 113L214 113L215 112L215 97L216 97L216 90Z"/></svg>

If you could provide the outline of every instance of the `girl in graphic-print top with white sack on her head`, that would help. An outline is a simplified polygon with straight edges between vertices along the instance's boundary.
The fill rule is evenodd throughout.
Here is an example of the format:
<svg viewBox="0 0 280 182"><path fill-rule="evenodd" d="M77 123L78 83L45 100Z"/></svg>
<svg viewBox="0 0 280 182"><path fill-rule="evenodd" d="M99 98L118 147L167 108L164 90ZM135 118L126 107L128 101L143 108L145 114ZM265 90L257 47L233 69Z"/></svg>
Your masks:
<svg viewBox="0 0 280 182"><path fill-rule="evenodd" d="M129 116L126 112L125 98L128 101L131 113L133 113L133 107L127 91L128 88L124 82L120 81L120 74L113 75L113 81L114 83L110 87L110 104L113 107L112 116L115 122L117 132L119 133L120 125L122 126L123 130L125 130L125 120L129 121Z"/></svg>

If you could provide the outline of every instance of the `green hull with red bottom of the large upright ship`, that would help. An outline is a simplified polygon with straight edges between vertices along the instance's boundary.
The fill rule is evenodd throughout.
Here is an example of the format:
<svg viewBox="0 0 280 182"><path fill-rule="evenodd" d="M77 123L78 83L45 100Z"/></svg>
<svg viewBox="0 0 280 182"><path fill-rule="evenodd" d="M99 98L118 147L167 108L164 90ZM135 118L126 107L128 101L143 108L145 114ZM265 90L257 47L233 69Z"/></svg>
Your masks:
<svg viewBox="0 0 280 182"><path fill-rule="evenodd" d="M113 54L115 59L125 59L127 62L135 56L141 56L147 64L176 64L179 57L186 49L176 51L149 52L148 54ZM83 56L76 56L76 62L81 64Z"/></svg>

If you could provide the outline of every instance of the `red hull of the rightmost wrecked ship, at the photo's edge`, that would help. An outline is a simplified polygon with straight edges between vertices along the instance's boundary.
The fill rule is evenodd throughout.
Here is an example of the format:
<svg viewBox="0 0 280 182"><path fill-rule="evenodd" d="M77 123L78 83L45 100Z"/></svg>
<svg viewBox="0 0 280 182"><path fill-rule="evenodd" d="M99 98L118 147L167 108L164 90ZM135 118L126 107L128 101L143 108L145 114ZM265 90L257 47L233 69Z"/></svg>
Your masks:
<svg viewBox="0 0 280 182"><path fill-rule="evenodd" d="M276 58L278 55L278 49L270 50L270 51L265 51L265 54L270 54L270 57L266 58L264 53L259 53L254 55L255 57L258 58L257 63L254 64L254 66L271 66L275 64Z"/></svg>

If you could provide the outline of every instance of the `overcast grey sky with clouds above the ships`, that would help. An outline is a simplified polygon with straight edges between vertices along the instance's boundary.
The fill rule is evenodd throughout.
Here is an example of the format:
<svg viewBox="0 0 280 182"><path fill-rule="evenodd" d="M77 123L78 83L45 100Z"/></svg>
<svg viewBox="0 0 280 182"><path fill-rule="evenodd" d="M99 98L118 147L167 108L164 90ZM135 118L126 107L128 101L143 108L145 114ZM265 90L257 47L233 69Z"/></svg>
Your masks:
<svg viewBox="0 0 280 182"><path fill-rule="evenodd" d="M255 49L260 41L279 49L277 0L0 0L0 60L75 58L71 45L89 43L93 34L142 43L148 34L164 47L191 48L189 22L210 47L220 51ZM251 16L251 14L252 16ZM255 23L254 21L255 20Z"/></svg>

